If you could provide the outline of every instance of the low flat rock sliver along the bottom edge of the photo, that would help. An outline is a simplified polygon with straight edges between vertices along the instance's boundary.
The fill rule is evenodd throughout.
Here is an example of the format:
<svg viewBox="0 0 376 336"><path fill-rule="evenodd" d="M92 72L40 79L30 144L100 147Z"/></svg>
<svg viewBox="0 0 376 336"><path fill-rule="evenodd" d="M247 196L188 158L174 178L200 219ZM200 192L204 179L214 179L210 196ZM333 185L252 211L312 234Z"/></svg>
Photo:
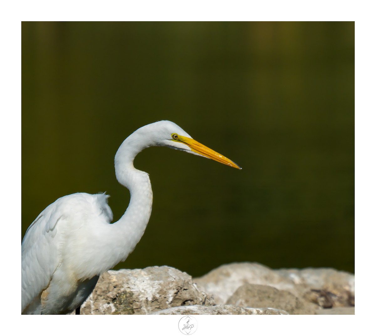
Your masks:
<svg viewBox="0 0 376 336"><path fill-rule="evenodd" d="M272 308L245 308L233 306L231 304L219 304L218 306L184 306L173 307L158 312L153 315L288 315L284 310Z"/></svg>

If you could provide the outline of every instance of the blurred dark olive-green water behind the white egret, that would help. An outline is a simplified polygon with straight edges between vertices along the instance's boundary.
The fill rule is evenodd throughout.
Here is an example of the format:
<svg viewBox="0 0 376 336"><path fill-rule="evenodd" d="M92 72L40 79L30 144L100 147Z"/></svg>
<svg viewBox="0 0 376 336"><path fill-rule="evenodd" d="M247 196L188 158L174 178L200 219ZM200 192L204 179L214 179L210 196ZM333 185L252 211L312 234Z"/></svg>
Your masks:
<svg viewBox="0 0 376 336"><path fill-rule="evenodd" d="M153 211L117 268L354 271L354 23L22 23L22 229L58 197L129 192L114 155L168 119L243 170L166 148L135 160Z"/></svg>

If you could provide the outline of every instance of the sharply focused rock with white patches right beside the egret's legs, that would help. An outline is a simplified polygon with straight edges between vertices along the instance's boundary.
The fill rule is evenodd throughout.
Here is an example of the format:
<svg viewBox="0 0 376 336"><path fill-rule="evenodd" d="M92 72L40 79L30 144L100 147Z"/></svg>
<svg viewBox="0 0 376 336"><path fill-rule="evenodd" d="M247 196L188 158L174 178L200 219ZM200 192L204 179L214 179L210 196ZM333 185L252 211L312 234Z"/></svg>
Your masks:
<svg viewBox="0 0 376 336"><path fill-rule="evenodd" d="M150 314L170 307L214 305L188 274L172 267L103 273L81 314Z"/></svg>

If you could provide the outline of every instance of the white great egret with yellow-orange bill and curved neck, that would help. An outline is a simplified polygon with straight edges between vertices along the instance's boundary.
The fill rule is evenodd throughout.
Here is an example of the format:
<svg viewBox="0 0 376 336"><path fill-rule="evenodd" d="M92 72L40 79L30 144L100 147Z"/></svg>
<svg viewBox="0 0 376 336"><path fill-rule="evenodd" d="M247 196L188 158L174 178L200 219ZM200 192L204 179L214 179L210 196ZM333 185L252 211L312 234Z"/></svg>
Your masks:
<svg viewBox="0 0 376 336"><path fill-rule="evenodd" d="M27 229L21 244L21 313L79 313L100 274L133 251L146 229L153 199L149 174L135 169L133 160L150 146L179 149L241 169L171 121L139 128L115 155L116 178L131 196L116 223L111 224L108 195L76 193L47 206Z"/></svg>

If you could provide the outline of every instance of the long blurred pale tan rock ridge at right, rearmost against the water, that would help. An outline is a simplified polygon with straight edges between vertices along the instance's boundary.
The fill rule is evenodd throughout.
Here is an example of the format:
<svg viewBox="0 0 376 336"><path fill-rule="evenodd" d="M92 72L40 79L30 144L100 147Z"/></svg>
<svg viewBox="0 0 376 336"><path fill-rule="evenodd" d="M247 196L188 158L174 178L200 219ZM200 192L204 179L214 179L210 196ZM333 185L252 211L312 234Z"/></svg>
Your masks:
<svg viewBox="0 0 376 336"><path fill-rule="evenodd" d="M251 262L233 263L215 268L193 279L205 292L213 294L215 303L224 304L244 284L272 286L290 292L317 308L355 305L355 277L332 268L272 270Z"/></svg>

